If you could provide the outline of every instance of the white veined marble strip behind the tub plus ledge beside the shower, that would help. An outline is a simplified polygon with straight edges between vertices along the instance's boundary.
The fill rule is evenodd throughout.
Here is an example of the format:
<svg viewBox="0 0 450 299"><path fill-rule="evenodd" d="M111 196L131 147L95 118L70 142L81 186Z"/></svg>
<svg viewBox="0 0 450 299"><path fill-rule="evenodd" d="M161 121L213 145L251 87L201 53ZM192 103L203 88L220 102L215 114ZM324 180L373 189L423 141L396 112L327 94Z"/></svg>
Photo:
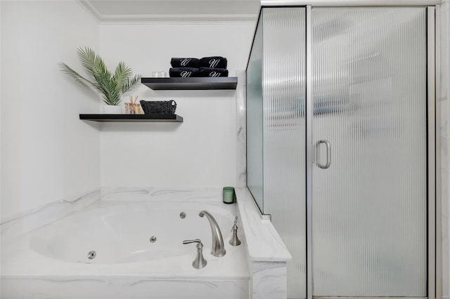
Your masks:
<svg viewBox="0 0 450 299"><path fill-rule="evenodd" d="M288 248L271 221L262 218L248 188L235 187L235 191L237 204L229 206L237 208L238 237L241 241L245 239L240 246L247 251L245 263L250 276L247 298L286 298L286 262L292 259ZM111 187L102 188L102 201L203 201L223 206L221 192L221 188Z"/></svg>

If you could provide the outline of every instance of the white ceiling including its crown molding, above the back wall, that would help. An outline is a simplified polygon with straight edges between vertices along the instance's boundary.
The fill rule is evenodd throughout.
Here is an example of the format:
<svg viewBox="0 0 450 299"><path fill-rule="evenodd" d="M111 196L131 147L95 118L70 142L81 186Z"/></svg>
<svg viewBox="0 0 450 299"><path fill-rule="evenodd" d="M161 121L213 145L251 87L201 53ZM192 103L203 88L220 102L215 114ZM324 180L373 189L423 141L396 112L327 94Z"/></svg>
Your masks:
<svg viewBox="0 0 450 299"><path fill-rule="evenodd" d="M78 0L98 22L255 22L259 0Z"/></svg>

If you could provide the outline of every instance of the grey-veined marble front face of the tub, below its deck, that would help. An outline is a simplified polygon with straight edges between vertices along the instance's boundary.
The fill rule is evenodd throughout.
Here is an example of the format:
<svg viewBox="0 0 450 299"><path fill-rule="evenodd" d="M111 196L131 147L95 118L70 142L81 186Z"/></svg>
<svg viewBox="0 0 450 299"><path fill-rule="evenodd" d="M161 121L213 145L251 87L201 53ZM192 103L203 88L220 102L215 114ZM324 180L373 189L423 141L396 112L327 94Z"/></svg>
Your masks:
<svg viewBox="0 0 450 299"><path fill-rule="evenodd" d="M146 277L59 277L25 278L22 282L3 279L2 299L247 299L248 281L195 281L153 279ZM10 289L17 290L11 295ZM33 289L30 293L28 289ZM204 297L204 293L214 293ZM45 294L45 295L42 295ZM182 295L180 295L182 294Z"/></svg>

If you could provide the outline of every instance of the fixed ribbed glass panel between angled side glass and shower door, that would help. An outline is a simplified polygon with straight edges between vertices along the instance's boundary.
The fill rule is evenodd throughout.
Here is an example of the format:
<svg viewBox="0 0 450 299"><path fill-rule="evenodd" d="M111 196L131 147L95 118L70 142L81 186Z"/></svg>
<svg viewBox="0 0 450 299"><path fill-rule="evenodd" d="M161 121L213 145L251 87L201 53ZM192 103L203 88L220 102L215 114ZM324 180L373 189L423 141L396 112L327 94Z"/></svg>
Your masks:
<svg viewBox="0 0 450 299"><path fill-rule="evenodd" d="M264 213L293 255L288 298L306 298L305 8L264 8Z"/></svg>

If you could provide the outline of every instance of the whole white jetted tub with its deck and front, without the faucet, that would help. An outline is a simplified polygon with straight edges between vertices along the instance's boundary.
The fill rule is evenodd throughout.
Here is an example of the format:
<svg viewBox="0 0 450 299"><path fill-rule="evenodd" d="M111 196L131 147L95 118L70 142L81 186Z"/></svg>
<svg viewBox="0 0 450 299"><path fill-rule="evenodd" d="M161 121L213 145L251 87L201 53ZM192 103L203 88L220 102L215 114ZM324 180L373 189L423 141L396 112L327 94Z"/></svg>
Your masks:
<svg viewBox="0 0 450 299"><path fill-rule="evenodd" d="M202 210L219 224L222 258L210 254ZM243 232L229 244L236 210L219 200L98 201L3 242L1 298L249 298ZM186 239L202 240L205 268L192 266Z"/></svg>

